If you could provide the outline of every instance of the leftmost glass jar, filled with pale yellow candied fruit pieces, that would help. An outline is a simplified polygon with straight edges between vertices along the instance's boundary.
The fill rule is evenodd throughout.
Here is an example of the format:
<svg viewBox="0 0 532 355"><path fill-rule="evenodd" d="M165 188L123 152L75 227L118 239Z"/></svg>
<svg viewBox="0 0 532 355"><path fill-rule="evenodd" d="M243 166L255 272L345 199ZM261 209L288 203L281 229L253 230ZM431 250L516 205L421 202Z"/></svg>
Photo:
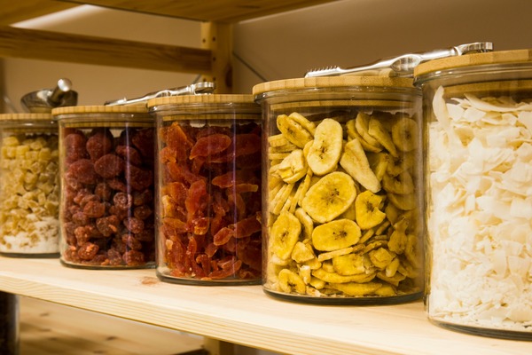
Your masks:
<svg viewBox="0 0 532 355"><path fill-rule="evenodd" d="M59 256L58 141L51 114L0 114L4 256Z"/></svg>

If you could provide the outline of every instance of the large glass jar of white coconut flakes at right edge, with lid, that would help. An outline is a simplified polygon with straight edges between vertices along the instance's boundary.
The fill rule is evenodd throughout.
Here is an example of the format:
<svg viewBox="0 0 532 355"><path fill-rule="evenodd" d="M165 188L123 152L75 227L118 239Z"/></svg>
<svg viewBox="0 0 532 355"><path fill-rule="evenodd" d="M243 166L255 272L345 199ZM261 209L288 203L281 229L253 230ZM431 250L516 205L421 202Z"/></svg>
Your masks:
<svg viewBox="0 0 532 355"><path fill-rule="evenodd" d="M416 68L435 324L532 340L532 51Z"/></svg>

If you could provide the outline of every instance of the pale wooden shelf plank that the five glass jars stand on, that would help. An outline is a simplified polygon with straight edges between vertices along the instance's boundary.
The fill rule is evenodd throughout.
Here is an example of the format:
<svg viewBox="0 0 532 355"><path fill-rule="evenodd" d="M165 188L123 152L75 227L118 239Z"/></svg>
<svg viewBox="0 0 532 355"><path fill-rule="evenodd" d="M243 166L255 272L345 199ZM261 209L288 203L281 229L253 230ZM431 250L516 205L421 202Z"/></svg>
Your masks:
<svg viewBox="0 0 532 355"><path fill-rule="evenodd" d="M0 290L291 354L517 355L530 345L436 327L420 302L295 304L266 296L260 286L168 284L153 270L72 269L56 259L0 256Z"/></svg>

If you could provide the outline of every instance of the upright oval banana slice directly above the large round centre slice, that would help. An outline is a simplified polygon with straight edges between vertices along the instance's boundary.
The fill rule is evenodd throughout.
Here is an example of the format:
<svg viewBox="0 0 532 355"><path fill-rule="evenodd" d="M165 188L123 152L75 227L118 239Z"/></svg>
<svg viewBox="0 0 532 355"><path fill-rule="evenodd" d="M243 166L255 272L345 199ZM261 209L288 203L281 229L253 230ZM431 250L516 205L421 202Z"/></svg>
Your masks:
<svg viewBox="0 0 532 355"><path fill-rule="evenodd" d="M336 168L340 161L342 140L343 131L339 122L325 118L317 125L307 154L307 162L314 174L322 176Z"/></svg>

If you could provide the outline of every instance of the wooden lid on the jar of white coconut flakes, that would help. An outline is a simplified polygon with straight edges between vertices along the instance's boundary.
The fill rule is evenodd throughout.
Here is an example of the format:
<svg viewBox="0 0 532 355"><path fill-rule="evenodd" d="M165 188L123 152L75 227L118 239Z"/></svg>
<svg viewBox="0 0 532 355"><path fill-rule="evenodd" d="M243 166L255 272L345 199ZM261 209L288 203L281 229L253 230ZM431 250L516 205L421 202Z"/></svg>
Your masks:
<svg viewBox="0 0 532 355"><path fill-rule="evenodd" d="M439 70L458 67L474 67L489 64L509 64L532 62L532 50L490 51L487 53L472 53L457 57L434 59L419 64L414 69L414 76L426 75Z"/></svg>

